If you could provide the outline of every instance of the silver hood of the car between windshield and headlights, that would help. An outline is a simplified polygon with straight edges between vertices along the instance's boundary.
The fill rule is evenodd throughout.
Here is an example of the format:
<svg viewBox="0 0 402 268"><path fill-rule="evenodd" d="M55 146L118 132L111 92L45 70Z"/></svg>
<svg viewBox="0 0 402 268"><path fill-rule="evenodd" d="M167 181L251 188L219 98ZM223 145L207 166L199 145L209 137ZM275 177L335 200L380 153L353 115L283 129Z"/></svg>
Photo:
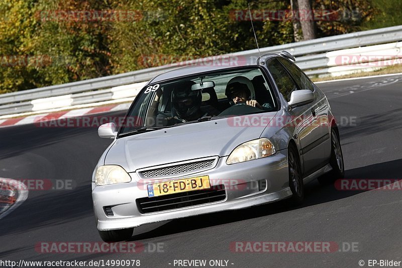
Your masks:
<svg viewBox="0 0 402 268"><path fill-rule="evenodd" d="M275 114L264 113L264 116L271 118ZM241 124L234 120L234 117L223 118L119 138L107 153L105 164L118 164L127 172L134 172L189 159L227 156L238 145L258 139L270 121L250 126L250 120L243 120Z"/></svg>

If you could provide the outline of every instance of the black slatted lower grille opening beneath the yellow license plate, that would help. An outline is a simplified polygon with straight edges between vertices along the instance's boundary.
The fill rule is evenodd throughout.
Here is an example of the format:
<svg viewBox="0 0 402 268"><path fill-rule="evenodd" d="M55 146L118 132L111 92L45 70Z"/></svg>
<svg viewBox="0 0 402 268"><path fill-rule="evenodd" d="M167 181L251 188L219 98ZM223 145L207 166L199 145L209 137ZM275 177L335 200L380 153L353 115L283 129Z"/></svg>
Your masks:
<svg viewBox="0 0 402 268"><path fill-rule="evenodd" d="M147 214L218 202L225 200L225 198L225 186L217 185L206 190L177 193L160 197L140 198L137 199L137 206L142 214Z"/></svg>

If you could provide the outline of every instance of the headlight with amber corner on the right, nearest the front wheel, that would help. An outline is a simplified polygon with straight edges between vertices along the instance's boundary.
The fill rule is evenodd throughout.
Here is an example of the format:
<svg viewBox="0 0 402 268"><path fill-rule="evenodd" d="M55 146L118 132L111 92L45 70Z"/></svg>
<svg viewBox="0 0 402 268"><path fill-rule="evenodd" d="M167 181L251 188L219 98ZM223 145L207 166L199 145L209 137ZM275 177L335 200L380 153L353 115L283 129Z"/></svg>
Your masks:
<svg viewBox="0 0 402 268"><path fill-rule="evenodd" d="M229 155L226 163L228 165L244 161L267 157L274 154L275 147L267 138L252 140L240 144Z"/></svg>

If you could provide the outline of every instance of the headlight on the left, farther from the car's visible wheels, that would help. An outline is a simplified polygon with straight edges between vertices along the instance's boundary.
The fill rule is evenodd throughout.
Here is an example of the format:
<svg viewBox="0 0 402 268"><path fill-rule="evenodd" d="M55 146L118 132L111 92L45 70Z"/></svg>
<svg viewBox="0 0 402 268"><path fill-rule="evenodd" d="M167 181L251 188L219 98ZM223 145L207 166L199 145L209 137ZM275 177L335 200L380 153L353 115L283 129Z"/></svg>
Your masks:
<svg viewBox="0 0 402 268"><path fill-rule="evenodd" d="M98 186L129 182L130 175L120 165L101 165L96 169L95 183Z"/></svg>

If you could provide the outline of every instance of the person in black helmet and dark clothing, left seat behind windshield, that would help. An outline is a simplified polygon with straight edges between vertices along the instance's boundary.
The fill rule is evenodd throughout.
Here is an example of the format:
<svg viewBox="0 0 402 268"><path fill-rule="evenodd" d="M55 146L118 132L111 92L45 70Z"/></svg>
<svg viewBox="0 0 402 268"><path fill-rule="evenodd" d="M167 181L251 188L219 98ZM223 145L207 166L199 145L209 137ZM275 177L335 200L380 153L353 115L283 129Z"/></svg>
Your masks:
<svg viewBox="0 0 402 268"><path fill-rule="evenodd" d="M194 116L201 106L203 97L199 90L191 90L193 84L195 82L187 80L177 83L173 88L173 112L182 119L189 119Z"/></svg>

